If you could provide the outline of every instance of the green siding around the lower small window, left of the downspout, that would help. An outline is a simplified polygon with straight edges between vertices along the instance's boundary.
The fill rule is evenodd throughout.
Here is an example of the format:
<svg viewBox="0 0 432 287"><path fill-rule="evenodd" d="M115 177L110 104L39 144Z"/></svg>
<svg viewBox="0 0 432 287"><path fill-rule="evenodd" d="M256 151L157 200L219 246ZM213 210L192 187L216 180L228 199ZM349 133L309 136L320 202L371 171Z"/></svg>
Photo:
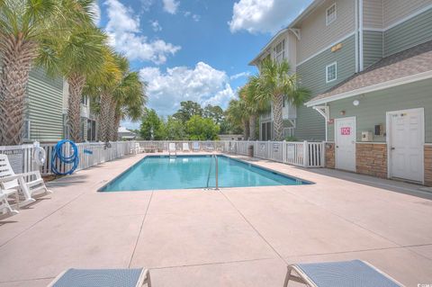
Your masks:
<svg viewBox="0 0 432 287"><path fill-rule="evenodd" d="M356 39L355 36L342 41L342 48L336 52L330 49L320 53L297 67L302 85L311 90L312 97L338 85L347 77L356 73ZM337 62L337 79L326 83L326 66Z"/></svg>

